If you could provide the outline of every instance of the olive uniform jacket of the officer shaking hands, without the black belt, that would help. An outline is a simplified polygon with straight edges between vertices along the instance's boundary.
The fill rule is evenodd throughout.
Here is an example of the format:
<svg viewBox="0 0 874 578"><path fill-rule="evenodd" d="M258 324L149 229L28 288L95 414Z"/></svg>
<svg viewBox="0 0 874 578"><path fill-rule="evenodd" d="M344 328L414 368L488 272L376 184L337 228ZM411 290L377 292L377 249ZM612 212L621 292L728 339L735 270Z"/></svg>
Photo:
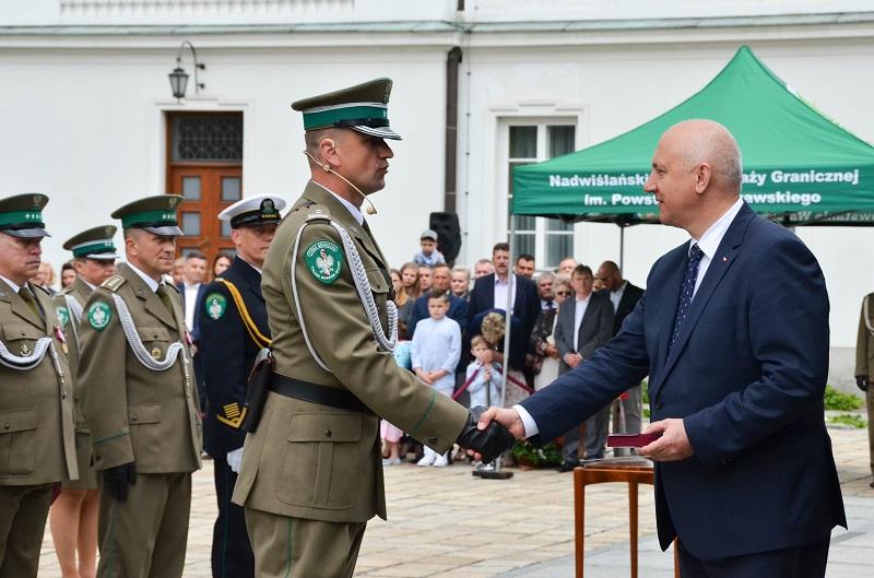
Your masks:
<svg viewBox="0 0 874 578"><path fill-rule="evenodd" d="M309 215L298 252L295 239ZM401 369L380 351L355 290L345 256L331 282L311 273L306 252L329 241L343 247L331 215L351 235L386 328L386 259L369 232L326 189L310 182L276 229L264 263L272 350L279 373L346 389L374 414L309 403L271 392L258 430L246 439L234 502L273 514L335 522L386 517L379 439L380 415L439 452L449 449L468 411ZM343 249L343 253L345 253ZM292 291L296 279L297 295ZM295 305L299 299L300 310ZM304 340L300 319L324 370Z"/></svg>

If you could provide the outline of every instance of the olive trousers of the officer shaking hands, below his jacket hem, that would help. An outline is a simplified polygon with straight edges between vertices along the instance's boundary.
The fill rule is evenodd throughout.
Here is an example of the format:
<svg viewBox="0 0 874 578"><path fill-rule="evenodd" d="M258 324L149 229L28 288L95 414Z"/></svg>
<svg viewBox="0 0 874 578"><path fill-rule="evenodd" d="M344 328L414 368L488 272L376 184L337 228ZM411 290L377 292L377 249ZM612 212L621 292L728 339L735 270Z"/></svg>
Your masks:
<svg viewBox="0 0 874 578"><path fill-rule="evenodd" d="M351 578L367 522L326 522L246 508L258 578Z"/></svg>

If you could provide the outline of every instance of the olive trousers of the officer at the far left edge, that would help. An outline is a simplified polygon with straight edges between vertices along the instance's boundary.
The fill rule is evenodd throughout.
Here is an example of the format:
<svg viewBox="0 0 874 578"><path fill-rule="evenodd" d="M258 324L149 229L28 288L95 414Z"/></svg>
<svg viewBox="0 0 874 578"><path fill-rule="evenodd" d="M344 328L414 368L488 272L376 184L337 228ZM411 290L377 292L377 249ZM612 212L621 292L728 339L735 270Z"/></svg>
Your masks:
<svg viewBox="0 0 874 578"><path fill-rule="evenodd" d="M51 484L0 486L0 578L36 578Z"/></svg>

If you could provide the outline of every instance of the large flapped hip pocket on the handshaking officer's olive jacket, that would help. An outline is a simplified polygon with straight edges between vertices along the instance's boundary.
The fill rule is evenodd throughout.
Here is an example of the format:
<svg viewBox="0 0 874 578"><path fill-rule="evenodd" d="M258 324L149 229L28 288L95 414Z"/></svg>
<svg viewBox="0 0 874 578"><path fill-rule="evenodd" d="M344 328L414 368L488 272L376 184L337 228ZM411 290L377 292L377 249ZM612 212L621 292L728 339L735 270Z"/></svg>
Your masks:
<svg viewBox="0 0 874 578"><path fill-rule="evenodd" d="M351 412L293 414L276 497L295 506L352 507L371 459L363 421Z"/></svg>

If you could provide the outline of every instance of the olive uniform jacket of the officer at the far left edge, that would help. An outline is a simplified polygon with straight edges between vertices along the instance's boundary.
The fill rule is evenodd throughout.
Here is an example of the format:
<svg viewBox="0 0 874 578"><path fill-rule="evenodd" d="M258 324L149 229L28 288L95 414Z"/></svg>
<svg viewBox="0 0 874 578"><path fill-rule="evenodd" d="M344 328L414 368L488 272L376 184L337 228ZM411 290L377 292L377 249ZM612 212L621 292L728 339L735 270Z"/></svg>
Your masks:
<svg viewBox="0 0 874 578"><path fill-rule="evenodd" d="M0 485L48 484L79 476L66 337L49 295L31 283L27 286L45 320L0 280L0 340L9 353L26 356L38 339L50 337L58 367L50 349L32 369L0 364Z"/></svg>

